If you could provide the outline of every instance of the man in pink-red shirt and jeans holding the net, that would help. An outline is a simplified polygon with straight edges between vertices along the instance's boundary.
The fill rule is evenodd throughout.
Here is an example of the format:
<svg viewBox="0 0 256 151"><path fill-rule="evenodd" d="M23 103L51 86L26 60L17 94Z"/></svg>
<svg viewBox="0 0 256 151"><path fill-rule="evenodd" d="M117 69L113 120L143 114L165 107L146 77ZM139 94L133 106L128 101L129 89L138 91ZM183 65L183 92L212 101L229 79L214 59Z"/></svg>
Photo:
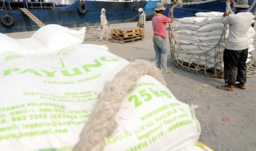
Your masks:
<svg viewBox="0 0 256 151"><path fill-rule="evenodd" d="M163 11L166 8L164 4L156 4L156 14L152 19L152 26L154 30L153 42L155 49L156 67L160 68L162 73L170 73L167 69L167 49L166 49L166 23L173 22L173 9L170 9L171 18L167 18L163 15Z"/></svg>

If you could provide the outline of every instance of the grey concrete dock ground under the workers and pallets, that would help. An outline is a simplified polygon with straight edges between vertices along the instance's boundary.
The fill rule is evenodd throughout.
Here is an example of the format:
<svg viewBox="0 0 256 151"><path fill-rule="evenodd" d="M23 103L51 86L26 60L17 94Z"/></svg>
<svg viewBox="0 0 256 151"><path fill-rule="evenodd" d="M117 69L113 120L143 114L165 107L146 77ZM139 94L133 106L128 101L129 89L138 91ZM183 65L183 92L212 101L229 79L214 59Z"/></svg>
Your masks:
<svg viewBox="0 0 256 151"><path fill-rule="evenodd" d="M121 27L136 28L137 22L110 25L110 30ZM34 32L7 35L28 38L32 33ZM154 61L152 35L151 21L146 21L145 38L138 42L119 44L108 40L86 40L84 43L107 45L111 53L129 61ZM169 44L167 48L170 48ZM256 56L256 52L253 54ZM235 88L233 92L228 92L216 88L217 85L224 84L224 79L179 69L170 57L167 66L172 71L164 74L168 89L179 101L198 106L195 113L201 125L200 142L214 150L256 150L256 77L247 78L246 90ZM226 121L225 118L230 120Z"/></svg>

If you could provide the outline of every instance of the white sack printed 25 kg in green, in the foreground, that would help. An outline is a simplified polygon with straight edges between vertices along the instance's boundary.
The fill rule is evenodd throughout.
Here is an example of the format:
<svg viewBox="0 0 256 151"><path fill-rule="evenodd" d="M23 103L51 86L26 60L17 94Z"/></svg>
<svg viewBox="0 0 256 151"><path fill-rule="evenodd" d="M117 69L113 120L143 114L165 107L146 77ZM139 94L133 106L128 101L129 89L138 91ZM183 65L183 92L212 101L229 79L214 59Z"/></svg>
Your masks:
<svg viewBox="0 0 256 151"><path fill-rule="evenodd" d="M199 137L193 114L166 86L143 75L122 101L115 118L118 129L106 139L104 150L189 150Z"/></svg>

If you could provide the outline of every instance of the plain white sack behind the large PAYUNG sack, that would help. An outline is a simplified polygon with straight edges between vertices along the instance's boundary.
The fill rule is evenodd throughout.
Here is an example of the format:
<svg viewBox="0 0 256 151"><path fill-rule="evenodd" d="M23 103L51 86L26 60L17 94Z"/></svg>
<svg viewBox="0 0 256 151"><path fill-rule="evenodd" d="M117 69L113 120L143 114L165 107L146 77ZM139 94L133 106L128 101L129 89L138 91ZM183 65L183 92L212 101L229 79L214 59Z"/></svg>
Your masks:
<svg viewBox="0 0 256 151"><path fill-rule="evenodd" d="M17 41L26 45L29 50L43 53L81 44L84 41L84 36L85 27L77 31L61 25L50 24L39 28L31 38L17 39Z"/></svg>

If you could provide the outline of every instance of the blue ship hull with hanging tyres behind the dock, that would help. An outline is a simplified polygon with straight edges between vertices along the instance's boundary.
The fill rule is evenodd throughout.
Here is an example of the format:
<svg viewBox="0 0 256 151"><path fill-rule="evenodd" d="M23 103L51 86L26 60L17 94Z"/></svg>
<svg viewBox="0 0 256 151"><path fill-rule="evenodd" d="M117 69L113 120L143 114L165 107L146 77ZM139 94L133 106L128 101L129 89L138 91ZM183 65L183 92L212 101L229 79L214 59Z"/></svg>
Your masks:
<svg viewBox="0 0 256 151"><path fill-rule="evenodd" d="M66 8L55 8L54 10L49 8L42 8L42 10L29 9L29 11L45 25L58 24L65 27L83 27L85 22L89 22L90 25L100 25L102 8L107 10L106 17L110 24L138 21L139 8L145 9L145 13L148 13L148 19L151 19L152 15L155 13L154 8L157 2L160 1L85 1L87 7L85 14L79 13L79 1L75 1ZM28 8L31 7L29 6ZM14 24L10 27L0 24L1 33L35 31L40 28L19 9L0 11L0 18L6 15L6 12L8 15L12 16Z"/></svg>

